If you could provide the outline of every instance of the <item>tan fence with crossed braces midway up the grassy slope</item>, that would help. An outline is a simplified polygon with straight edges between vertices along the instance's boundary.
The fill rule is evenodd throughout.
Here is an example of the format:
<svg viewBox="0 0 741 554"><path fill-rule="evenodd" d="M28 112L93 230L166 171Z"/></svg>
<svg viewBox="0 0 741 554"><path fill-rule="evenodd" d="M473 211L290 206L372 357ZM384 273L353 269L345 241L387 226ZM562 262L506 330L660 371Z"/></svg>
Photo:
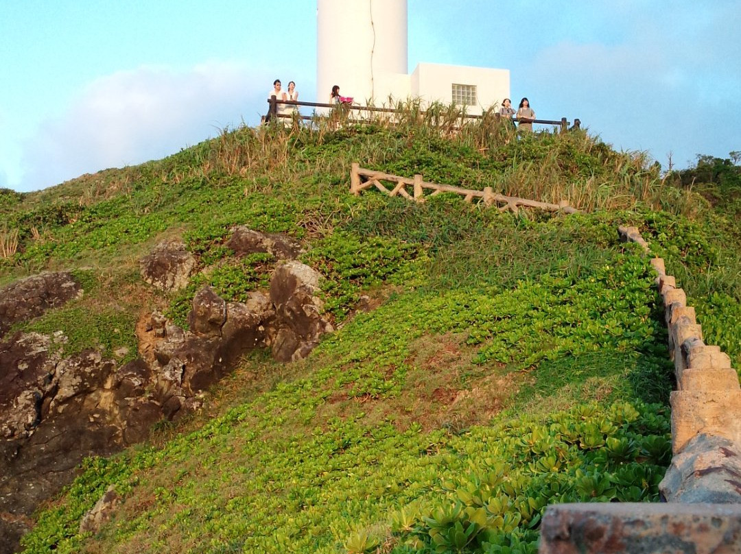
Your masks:
<svg viewBox="0 0 741 554"><path fill-rule="evenodd" d="M381 181L391 181L393 187L389 189ZM428 183L422 179L422 175L415 175L414 178L401 177L383 173L382 171L366 170L359 164L353 163L350 170L350 193L360 196L360 193L368 188L376 187L382 193L388 196L403 196L408 200L424 201L425 190L431 190L432 193L427 196L436 196L440 193L456 193L465 198L465 201L472 202L473 198L481 198L485 205L499 206L499 211L511 210L514 213L519 211L519 207L532 207L548 212L563 211L565 213L579 213L579 210L568 205L568 201L562 200L558 204L548 204L537 202L526 198L516 198L515 196L503 196L494 193L491 187L485 187L484 190L471 190L462 187L454 187L451 184ZM412 187L410 194L405 187Z"/></svg>

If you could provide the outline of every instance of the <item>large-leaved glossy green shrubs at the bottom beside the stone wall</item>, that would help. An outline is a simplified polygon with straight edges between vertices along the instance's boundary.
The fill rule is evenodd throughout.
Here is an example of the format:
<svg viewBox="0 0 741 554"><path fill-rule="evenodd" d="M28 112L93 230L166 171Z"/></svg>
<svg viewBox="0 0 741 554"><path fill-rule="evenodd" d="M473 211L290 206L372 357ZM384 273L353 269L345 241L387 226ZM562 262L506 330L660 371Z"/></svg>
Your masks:
<svg viewBox="0 0 741 554"><path fill-rule="evenodd" d="M393 514L391 553L534 554L548 504L658 501L671 457L665 417L618 403L525 420L504 424L496 441L479 435L470 473L444 482L442 501Z"/></svg>

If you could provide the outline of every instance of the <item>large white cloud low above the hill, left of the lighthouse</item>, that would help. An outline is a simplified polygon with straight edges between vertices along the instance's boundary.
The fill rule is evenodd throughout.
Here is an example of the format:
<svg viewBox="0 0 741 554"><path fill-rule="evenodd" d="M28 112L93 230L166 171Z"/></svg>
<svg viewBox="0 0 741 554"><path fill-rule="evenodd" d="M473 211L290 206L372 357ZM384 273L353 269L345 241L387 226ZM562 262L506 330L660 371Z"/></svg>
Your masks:
<svg viewBox="0 0 741 554"><path fill-rule="evenodd" d="M213 62L176 72L141 67L93 81L64 116L24 144L19 190L49 187L83 173L163 158L265 111L267 73ZM266 84L268 83L268 84Z"/></svg>

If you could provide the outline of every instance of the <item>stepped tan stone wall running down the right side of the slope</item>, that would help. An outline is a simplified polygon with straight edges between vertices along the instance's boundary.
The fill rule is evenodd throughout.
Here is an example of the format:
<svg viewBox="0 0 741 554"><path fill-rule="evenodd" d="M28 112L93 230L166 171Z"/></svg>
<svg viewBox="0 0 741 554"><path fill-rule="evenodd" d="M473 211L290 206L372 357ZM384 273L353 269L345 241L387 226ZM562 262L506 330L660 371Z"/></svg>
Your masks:
<svg viewBox="0 0 741 554"><path fill-rule="evenodd" d="M650 249L637 227L622 241ZM741 387L731 358L705 344L684 290L653 258L677 390L672 460L660 504L559 504L543 515L540 554L741 552ZM730 504L730 506L729 506Z"/></svg>

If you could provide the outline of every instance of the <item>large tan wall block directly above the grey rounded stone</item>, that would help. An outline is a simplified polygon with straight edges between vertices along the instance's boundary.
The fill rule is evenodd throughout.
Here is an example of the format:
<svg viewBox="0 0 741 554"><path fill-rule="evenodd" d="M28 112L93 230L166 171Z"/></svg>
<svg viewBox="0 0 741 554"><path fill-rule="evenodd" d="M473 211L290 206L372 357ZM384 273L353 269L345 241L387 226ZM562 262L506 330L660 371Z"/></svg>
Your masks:
<svg viewBox="0 0 741 554"><path fill-rule="evenodd" d="M702 433L741 444L740 390L675 390L669 400L675 454Z"/></svg>

